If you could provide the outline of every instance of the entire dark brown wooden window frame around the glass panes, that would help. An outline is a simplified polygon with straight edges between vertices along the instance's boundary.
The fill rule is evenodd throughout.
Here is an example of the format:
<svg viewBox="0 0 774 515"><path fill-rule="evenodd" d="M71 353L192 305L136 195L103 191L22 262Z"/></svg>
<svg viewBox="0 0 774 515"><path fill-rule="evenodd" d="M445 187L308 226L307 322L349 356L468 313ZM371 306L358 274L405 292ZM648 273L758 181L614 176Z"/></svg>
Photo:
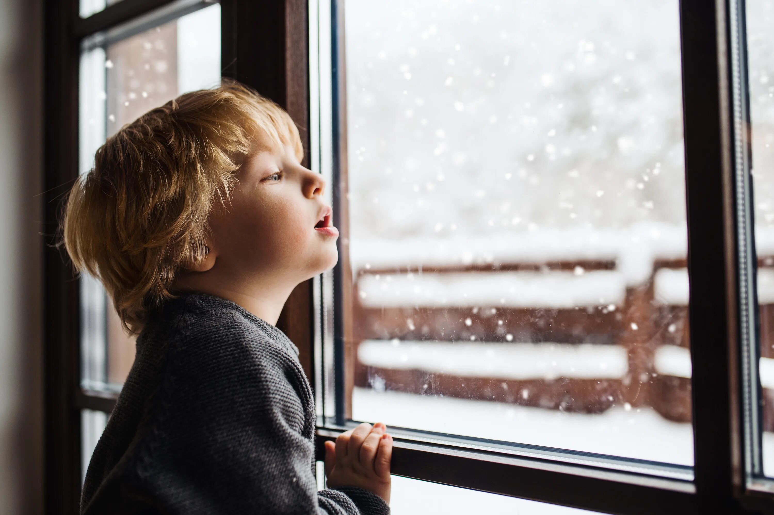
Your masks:
<svg viewBox="0 0 774 515"><path fill-rule="evenodd" d="M307 0L221 0L224 75L272 98L300 126L309 165L310 77ZM344 0L333 0L334 80L344 80L341 19ZM743 9L744 0L741 0ZM122 0L80 19L77 0L46 0L45 12L45 373L46 513L77 513L80 496L80 410L110 412L111 394L83 391L79 367L79 291L63 249L53 247L61 199L77 176L78 63L80 41L157 9L173 19L207 2ZM742 346L738 277L738 227L733 142L734 80L731 63L731 0L680 2L683 124L686 155L690 337L693 377L694 481L669 479L561 459L514 455L396 438L392 470L490 493L603 513L774 513L767 485L750 483L742 401ZM160 22L160 19L155 19ZM743 20L741 21L743 23ZM255 52L255 49L261 49ZM744 68L744 66L742 67ZM742 70L744 74L744 70ZM745 84L745 83L743 83ZM343 88L334 87L334 94ZM746 107L742 99L743 107ZM334 179L346 181L345 102L334 97ZM743 109L746 111L746 109ZM741 152L748 149L742 148ZM336 182L336 181L334 181ZM334 184L332 186L338 186ZM344 213L341 189L334 209ZM344 215L345 218L345 215ZM341 241L339 242L341 244ZM341 247L340 247L340 255ZM337 265L336 292L347 276ZM278 326L301 350L304 370L313 373L313 292L307 281L290 296ZM346 352L344 321L337 312L337 361ZM349 381L337 387L344 406ZM351 386L351 385L350 385ZM344 430L317 430L318 451ZM752 486L751 486L752 485ZM758 486L755 486L758 485Z"/></svg>

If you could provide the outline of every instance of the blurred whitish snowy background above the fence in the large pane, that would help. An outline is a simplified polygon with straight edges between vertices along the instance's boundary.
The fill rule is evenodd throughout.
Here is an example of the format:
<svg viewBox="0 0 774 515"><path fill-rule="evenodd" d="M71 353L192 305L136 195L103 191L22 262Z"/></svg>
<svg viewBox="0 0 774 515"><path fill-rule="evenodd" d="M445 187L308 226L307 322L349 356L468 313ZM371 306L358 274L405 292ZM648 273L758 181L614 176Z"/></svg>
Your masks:
<svg viewBox="0 0 774 515"><path fill-rule="evenodd" d="M348 2L355 239L685 221L676 0Z"/></svg>

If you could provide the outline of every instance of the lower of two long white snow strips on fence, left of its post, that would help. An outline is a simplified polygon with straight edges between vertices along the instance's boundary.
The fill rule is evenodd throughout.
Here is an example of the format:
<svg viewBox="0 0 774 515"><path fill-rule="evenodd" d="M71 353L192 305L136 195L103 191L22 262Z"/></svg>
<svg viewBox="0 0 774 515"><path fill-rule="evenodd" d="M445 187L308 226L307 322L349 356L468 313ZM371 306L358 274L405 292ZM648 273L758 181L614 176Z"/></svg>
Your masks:
<svg viewBox="0 0 774 515"><path fill-rule="evenodd" d="M371 367L519 380L557 377L615 379L628 372L625 348L592 343L574 345L372 339L360 344L358 360Z"/></svg>

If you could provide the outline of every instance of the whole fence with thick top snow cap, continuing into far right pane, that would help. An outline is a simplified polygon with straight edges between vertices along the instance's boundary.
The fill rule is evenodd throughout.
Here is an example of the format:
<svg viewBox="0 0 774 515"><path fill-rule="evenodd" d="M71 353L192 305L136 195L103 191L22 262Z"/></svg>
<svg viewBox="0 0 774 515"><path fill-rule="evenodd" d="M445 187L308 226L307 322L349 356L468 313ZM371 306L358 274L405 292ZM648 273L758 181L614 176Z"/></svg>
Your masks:
<svg viewBox="0 0 774 515"><path fill-rule="evenodd" d="M352 384L585 413L649 406L690 421L685 231L351 240ZM774 430L774 233L756 240Z"/></svg>

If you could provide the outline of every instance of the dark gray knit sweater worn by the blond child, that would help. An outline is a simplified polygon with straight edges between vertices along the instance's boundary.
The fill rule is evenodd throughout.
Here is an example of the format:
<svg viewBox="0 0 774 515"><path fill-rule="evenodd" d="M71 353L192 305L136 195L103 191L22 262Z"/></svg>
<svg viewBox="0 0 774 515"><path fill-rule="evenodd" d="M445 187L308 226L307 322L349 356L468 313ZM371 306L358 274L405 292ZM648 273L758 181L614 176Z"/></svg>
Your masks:
<svg viewBox="0 0 774 515"><path fill-rule="evenodd" d="M137 339L81 513L389 513L365 489L317 491L314 425L287 336L234 302L184 294Z"/></svg>

